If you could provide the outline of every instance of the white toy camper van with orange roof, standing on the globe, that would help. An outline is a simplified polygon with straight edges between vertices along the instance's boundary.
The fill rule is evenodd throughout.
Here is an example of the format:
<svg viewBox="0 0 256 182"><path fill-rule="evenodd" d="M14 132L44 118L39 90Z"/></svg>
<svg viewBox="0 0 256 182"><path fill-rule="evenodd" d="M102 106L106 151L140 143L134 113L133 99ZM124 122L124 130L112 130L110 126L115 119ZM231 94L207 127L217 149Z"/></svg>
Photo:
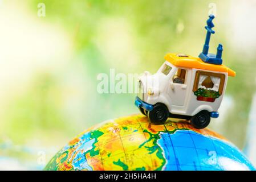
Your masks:
<svg viewBox="0 0 256 182"><path fill-rule="evenodd" d="M168 117L181 118L203 129L211 117L218 117L227 77L234 77L235 72L222 65L221 44L216 55L208 53L210 35L214 34L213 18L209 15L204 48L198 57L168 53L157 73L144 72L139 78L135 105L152 123L163 124Z"/></svg>

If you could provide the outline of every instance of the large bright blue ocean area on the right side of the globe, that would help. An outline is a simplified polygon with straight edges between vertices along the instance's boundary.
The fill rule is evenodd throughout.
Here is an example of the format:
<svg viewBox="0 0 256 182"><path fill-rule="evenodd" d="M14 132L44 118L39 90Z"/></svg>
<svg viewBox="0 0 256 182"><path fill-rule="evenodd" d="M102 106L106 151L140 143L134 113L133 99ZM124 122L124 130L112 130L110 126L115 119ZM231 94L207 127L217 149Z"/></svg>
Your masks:
<svg viewBox="0 0 256 182"><path fill-rule="evenodd" d="M158 144L164 148L167 161L164 170L255 170L231 143L192 130L160 135Z"/></svg>

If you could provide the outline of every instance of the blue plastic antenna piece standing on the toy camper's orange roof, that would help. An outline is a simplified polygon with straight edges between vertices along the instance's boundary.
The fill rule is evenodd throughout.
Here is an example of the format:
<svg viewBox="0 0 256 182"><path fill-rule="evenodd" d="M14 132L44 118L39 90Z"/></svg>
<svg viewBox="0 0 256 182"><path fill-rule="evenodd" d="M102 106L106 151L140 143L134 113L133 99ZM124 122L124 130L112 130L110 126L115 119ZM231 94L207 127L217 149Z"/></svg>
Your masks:
<svg viewBox="0 0 256 182"><path fill-rule="evenodd" d="M204 48L202 49L202 52L200 53L200 55L198 57L200 57L200 59L202 61L204 61L205 63L222 64L222 58L221 58L222 51L223 51L222 44L219 44L219 46L217 48L217 55L208 53L210 36L215 33L215 31L212 30L212 28L214 27L214 24L213 24L214 18L215 18L214 15L211 14L211 15L209 15L209 19L206 21L207 26L205 26L205 29L207 30L207 33L206 33L206 38L205 38L205 44L204 44Z"/></svg>

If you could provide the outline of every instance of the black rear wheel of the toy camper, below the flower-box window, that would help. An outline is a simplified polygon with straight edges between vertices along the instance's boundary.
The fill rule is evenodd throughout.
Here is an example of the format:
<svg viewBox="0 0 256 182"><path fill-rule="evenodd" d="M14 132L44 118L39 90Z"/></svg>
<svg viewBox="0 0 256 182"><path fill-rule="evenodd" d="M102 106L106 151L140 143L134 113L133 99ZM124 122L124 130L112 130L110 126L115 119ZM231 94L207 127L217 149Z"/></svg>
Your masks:
<svg viewBox="0 0 256 182"><path fill-rule="evenodd" d="M191 118L191 123L196 129L204 129L210 123L210 113L202 110Z"/></svg>

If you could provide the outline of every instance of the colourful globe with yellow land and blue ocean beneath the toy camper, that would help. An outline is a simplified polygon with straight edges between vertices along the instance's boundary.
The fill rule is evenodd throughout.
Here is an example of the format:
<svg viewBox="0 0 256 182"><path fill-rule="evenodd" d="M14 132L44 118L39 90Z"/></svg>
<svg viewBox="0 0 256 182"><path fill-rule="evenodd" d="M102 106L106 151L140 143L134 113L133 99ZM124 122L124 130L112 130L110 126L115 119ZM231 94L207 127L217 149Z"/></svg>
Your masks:
<svg viewBox="0 0 256 182"><path fill-rule="evenodd" d="M189 122L153 125L143 115L106 121L79 134L46 170L255 170L234 144Z"/></svg>

